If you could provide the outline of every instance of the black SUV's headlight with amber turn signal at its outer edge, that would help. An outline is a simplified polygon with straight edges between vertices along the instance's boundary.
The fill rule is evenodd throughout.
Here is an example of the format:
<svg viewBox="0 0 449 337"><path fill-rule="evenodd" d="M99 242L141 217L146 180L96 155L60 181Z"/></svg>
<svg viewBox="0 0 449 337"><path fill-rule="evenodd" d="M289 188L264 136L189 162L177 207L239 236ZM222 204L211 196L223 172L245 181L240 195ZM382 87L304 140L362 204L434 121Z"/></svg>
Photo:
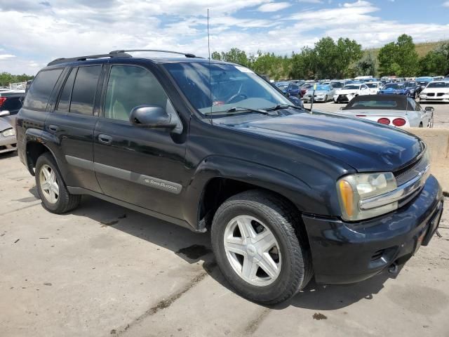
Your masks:
<svg viewBox="0 0 449 337"><path fill-rule="evenodd" d="M337 181L337 192L344 220L373 218L398 208L397 201L375 209L360 209L360 201L396 190L393 173L361 173L345 176Z"/></svg>

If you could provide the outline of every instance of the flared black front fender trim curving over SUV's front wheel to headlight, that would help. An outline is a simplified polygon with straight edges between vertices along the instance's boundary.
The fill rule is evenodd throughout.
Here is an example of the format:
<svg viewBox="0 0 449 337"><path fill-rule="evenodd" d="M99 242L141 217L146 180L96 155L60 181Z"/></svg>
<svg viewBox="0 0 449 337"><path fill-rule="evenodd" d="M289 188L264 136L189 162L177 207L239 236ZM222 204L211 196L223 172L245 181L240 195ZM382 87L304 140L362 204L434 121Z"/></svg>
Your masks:
<svg viewBox="0 0 449 337"><path fill-rule="evenodd" d="M185 191L184 214L188 223L194 227L199 225L199 209L201 197L213 178L228 178L242 183L255 185L271 190L286 197L302 212L326 215L332 213L333 203L329 203L328 189L320 189L308 185L295 176L269 166L255 164L251 161L231 157L212 156L203 159ZM334 186L330 177L316 174L316 183L321 186ZM199 228L201 230L201 228Z"/></svg>

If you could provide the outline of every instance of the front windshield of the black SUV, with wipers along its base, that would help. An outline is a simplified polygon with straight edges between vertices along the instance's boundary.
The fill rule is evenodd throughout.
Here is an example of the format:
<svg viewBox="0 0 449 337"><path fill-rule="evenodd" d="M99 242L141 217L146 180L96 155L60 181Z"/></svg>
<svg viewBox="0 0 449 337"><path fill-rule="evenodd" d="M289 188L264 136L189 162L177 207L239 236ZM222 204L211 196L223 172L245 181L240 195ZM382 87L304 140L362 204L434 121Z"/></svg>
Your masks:
<svg viewBox="0 0 449 337"><path fill-rule="evenodd" d="M168 63L164 67L201 114L226 112L233 107L257 110L292 105L246 67L208 62Z"/></svg>

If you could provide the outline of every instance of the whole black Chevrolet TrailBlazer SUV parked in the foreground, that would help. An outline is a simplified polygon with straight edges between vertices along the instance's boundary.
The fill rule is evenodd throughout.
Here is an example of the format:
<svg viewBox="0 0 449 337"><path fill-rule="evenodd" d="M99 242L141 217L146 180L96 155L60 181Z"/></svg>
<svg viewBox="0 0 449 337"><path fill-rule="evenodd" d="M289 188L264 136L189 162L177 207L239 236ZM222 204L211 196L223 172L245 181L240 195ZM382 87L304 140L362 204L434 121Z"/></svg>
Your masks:
<svg viewBox="0 0 449 337"><path fill-rule="evenodd" d="M210 230L229 283L264 304L428 244L443 197L416 136L311 114L240 65L131 52L54 60L32 82L18 152L48 211L91 194Z"/></svg>

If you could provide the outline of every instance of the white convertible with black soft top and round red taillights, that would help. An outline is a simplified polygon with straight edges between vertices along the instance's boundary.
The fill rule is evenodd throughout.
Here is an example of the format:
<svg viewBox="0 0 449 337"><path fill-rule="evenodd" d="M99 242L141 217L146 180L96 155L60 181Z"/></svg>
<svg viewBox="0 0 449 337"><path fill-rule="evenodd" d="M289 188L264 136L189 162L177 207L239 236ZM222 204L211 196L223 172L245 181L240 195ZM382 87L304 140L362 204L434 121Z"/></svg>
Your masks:
<svg viewBox="0 0 449 337"><path fill-rule="evenodd" d="M344 116L360 117L398 128L434 126L434 108L423 109L413 98L405 95L357 96L340 110Z"/></svg>

